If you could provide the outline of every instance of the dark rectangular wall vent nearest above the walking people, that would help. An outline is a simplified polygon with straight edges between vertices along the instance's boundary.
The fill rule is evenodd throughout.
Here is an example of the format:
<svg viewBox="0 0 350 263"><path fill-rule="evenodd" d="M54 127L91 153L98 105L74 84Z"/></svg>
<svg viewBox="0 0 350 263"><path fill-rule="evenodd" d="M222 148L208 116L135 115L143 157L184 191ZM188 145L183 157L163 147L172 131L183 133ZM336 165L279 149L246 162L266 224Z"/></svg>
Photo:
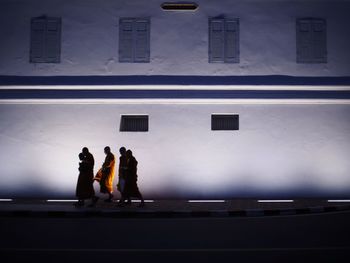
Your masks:
<svg viewBox="0 0 350 263"><path fill-rule="evenodd" d="M120 119L121 132L147 132L148 115L122 115Z"/></svg>

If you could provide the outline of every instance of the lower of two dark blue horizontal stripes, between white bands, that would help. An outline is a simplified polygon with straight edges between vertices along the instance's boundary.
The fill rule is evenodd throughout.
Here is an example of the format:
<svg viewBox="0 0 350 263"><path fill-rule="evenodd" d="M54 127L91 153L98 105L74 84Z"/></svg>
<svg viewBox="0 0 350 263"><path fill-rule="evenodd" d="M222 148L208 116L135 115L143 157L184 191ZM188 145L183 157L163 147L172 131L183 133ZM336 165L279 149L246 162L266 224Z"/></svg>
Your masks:
<svg viewBox="0 0 350 263"><path fill-rule="evenodd" d="M0 90L1 99L350 99L350 91L317 90Z"/></svg>

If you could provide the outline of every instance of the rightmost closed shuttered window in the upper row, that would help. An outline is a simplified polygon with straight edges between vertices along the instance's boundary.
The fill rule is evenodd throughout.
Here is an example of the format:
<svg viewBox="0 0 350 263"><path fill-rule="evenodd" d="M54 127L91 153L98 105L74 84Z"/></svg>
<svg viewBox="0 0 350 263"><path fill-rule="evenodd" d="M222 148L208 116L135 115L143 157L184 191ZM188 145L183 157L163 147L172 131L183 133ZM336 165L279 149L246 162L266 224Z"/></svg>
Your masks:
<svg viewBox="0 0 350 263"><path fill-rule="evenodd" d="M327 63L327 24L325 19L297 19L297 63Z"/></svg>

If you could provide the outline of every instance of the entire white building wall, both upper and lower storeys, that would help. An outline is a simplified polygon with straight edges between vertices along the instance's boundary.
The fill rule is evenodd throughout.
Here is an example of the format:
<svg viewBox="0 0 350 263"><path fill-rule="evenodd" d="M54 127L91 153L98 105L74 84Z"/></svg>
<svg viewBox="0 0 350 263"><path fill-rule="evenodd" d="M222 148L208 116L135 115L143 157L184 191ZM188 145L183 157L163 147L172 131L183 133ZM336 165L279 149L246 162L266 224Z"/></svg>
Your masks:
<svg viewBox="0 0 350 263"><path fill-rule="evenodd" d="M162 2L0 0L0 76L350 75L348 0L198 0L195 12L164 12ZM62 18L59 64L29 63L30 19L41 15ZM208 63L208 18L221 15L239 18L238 64ZM150 63L118 62L121 17L150 18ZM326 64L296 63L299 17L327 19ZM350 107L339 96L327 103L17 99L0 101L0 197L71 197L81 148L95 155L96 171L106 145L134 151L149 198L349 196ZM133 113L149 114L149 132L118 131L120 115ZM212 113L239 114L240 130L211 131Z"/></svg>

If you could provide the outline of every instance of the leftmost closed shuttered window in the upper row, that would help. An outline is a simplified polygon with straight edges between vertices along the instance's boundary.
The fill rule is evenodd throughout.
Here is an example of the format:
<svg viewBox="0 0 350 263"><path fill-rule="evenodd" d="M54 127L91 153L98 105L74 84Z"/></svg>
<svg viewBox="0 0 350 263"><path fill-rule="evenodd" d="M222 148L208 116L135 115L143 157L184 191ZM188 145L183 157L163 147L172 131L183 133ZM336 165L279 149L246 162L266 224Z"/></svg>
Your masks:
<svg viewBox="0 0 350 263"><path fill-rule="evenodd" d="M32 18L30 38L30 62L60 63L60 57L61 18Z"/></svg>

